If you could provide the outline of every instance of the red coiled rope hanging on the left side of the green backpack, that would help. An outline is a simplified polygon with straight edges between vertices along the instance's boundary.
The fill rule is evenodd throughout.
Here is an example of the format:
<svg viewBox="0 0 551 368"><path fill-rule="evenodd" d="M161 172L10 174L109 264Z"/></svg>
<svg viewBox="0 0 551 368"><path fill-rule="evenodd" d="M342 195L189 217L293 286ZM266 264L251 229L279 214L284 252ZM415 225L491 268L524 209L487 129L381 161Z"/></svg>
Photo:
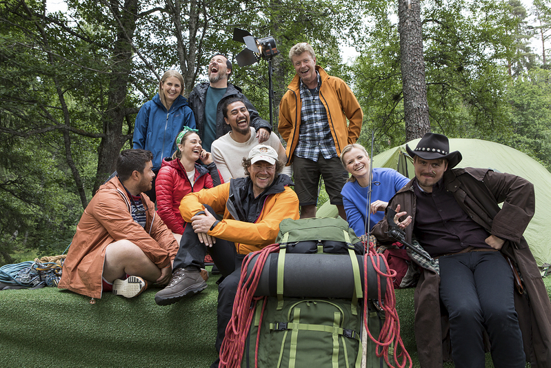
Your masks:
<svg viewBox="0 0 551 368"><path fill-rule="evenodd" d="M279 244L268 245L268 247L265 247L259 252L252 252L243 260L243 265L241 266L241 278L239 279L237 294L235 294L233 304L232 318L226 327L226 336L224 337L222 347L220 349L221 353L219 367L241 366L246 339L250 329L250 324L252 323L252 317L254 316L254 309L258 300L264 298L263 296L255 297L254 292L259 284L260 275L262 274L262 269L268 259L268 255L274 252L279 252ZM250 260L252 260L252 257L257 254L258 258L252 267L250 276L247 278L247 268ZM265 306L266 303L264 303L262 307L262 314ZM260 336L260 334L258 334L258 336ZM258 341L255 356L258 356ZM254 365L257 367L257 358L254 360Z"/></svg>

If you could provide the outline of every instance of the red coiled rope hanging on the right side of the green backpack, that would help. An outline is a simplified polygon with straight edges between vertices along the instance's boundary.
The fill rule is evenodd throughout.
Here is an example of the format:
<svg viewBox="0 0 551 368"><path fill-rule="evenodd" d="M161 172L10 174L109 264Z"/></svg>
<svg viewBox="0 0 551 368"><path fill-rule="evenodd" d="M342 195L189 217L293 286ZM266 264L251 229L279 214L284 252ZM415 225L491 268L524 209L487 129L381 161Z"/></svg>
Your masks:
<svg viewBox="0 0 551 368"><path fill-rule="evenodd" d="M388 273L381 271L381 258L383 259L385 268L388 270ZM384 300L382 305L379 307L382 311L385 312L385 322L383 327L381 327L381 332L379 333L379 340L374 338L368 328L368 259L371 260L371 264L375 272L377 272L377 297L379 300ZM376 354L377 357L384 356L386 364L390 368L394 368L388 360L388 349L391 345L394 345L394 362L397 364L398 368L404 368L405 365L409 362L409 367L412 367L412 360L408 351L405 350L403 346L403 341L400 336L400 320L398 318L398 313L396 311L396 296L394 295L394 285L392 284L392 278L396 276L396 272L388 267L386 258L377 254L374 247L370 244L368 252L365 252L363 256L363 275L364 275L364 293L363 293L363 324L365 325L365 330L368 332L370 339L377 344ZM386 283L386 293L381 294L381 277L387 278ZM384 298L382 297L384 295ZM401 358L401 362L399 362Z"/></svg>

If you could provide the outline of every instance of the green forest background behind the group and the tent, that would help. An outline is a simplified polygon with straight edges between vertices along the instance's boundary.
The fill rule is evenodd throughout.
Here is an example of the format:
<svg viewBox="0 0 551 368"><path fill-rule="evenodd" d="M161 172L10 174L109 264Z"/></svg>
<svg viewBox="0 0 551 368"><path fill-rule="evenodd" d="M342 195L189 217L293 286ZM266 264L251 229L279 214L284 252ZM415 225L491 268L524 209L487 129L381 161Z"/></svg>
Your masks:
<svg viewBox="0 0 551 368"><path fill-rule="evenodd" d="M132 147L136 114L165 70L183 74L187 96L206 80L210 57L227 54L230 81L268 119L268 65L237 65L244 45L232 41L234 27L277 41L276 132L294 76L288 51L305 41L356 94L364 112L359 143L370 147L374 132L377 154L406 141L397 1L65 3L52 11L46 0L0 1L0 265L64 252L118 152ZM430 130L510 145L550 170L551 4L402 5L412 3L420 9Z"/></svg>

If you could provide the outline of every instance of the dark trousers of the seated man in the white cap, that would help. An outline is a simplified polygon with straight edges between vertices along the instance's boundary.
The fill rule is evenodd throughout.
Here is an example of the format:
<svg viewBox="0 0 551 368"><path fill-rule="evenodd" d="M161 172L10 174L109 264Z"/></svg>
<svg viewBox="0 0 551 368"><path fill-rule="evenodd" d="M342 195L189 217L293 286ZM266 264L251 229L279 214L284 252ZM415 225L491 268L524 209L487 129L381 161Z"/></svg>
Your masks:
<svg viewBox="0 0 551 368"><path fill-rule="evenodd" d="M205 208L215 217L219 216L214 213L212 208L204 205ZM206 247L201 242L197 234L195 234L190 223L183 230L180 248L174 258L174 269L185 268L192 270L200 270L205 267L205 256L210 254L214 265L217 265L223 276L223 281L218 285L218 307L217 307L217 340L215 347L220 352L222 341L226 335L226 326L232 318L233 300L237 293L237 285L241 276L241 263L244 254L237 254L235 244L231 241L225 241L217 238L216 243L212 247ZM216 367L218 365L215 365Z"/></svg>

